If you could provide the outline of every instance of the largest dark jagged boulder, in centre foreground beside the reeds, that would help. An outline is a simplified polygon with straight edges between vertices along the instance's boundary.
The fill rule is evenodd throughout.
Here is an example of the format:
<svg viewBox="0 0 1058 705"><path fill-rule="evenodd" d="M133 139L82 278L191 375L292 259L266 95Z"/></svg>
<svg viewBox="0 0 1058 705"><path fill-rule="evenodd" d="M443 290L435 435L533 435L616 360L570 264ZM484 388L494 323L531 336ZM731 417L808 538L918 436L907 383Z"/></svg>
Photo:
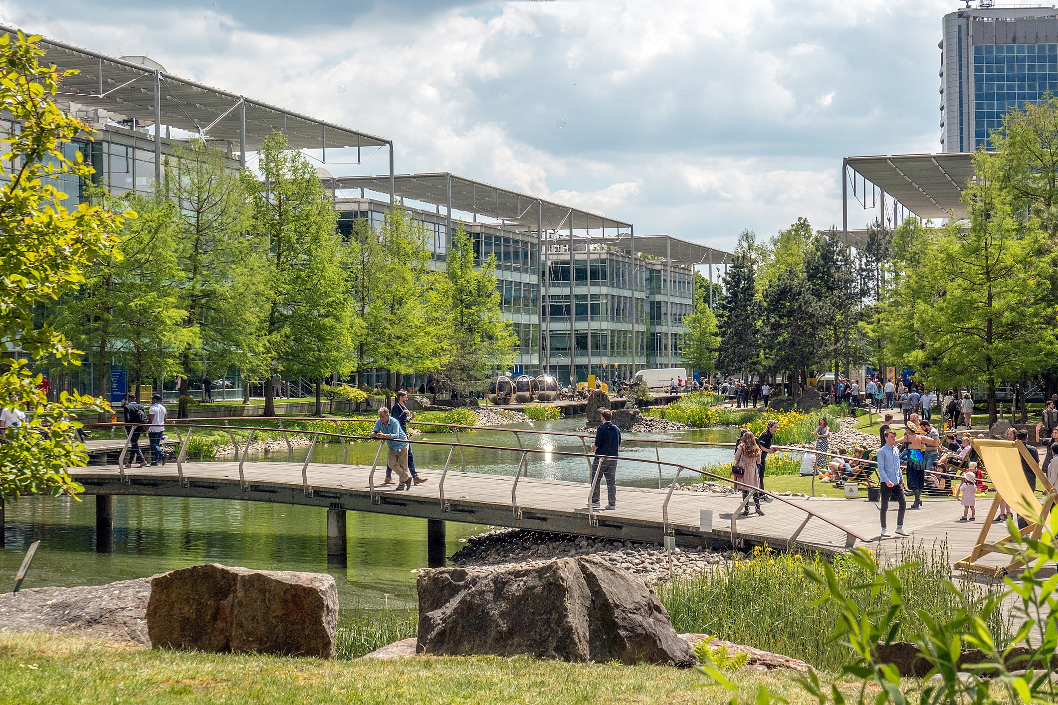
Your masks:
<svg viewBox="0 0 1058 705"><path fill-rule="evenodd" d="M437 569L420 573L417 587L419 653L697 663L646 585L597 558L506 571Z"/></svg>

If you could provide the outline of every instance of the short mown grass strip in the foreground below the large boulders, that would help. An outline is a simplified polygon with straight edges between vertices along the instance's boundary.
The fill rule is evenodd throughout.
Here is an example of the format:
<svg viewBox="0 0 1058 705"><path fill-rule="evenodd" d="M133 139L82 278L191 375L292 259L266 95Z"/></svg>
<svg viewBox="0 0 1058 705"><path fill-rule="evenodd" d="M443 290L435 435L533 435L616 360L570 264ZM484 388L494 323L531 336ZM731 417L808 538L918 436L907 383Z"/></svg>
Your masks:
<svg viewBox="0 0 1058 705"><path fill-rule="evenodd" d="M790 671L740 671L814 702ZM2 703L727 703L694 670L567 664L528 656L317 661L128 648L49 634L0 633Z"/></svg>

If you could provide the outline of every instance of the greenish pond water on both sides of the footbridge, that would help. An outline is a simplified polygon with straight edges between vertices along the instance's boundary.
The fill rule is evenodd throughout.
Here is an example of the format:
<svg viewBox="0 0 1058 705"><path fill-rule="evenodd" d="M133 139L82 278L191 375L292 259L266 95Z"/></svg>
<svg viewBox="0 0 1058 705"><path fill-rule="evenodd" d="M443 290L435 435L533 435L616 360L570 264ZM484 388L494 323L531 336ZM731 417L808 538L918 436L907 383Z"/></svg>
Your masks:
<svg viewBox="0 0 1058 705"><path fill-rule="evenodd" d="M507 428L573 431L583 416L549 422L514 424ZM428 433L422 440L451 442L451 433ZM735 429L690 429L667 433L626 433L625 438L708 441L731 443ZM516 445L513 434L500 430L460 433L459 440L479 445ZM555 451L581 451L580 441L559 435L522 434L526 447ZM371 464L378 444L349 445L349 462ZM302 461L308 448L295 447L293 459ZM449 446L419 446L416 465L439 469ZM626 444L622 454L655 459L652 446ZM341 463L342 446L317 446L313 462ZM691 467L730 460L724 448L660 448L662 461ZM251 452L248 462L286 460L279 452ZM218 458L225 460L225 458ZM467 470L493 475L514 475L518 452L467 449ZM452 466L459 467L459 452ZM384 470L383 470L384 471ZM587 481L583 458L558 454L531 457L529 477L574 482ZM671 482L673 471L662 468L662 482ZM681 476L682 480L682 476ZM621 463L618 484L657 487L658 467L650 463ZM343 608L413 608L416 605L415 573L426 567L426 522L424 519L349 512L348 557L345 565L328 564L326 512L316 507L216 499L117 497L114 502L114 550L95 552L95 500L73 498L23 498L7 503L6 546L0 550L0 591L10 591L29 544L39 540L40 549L24 587L102 585L113 580L145 577L156 573L203 562L245 565L261 570L326 572L339 586ZM448 522L448 554L466 539L488 527Z"/></svg>

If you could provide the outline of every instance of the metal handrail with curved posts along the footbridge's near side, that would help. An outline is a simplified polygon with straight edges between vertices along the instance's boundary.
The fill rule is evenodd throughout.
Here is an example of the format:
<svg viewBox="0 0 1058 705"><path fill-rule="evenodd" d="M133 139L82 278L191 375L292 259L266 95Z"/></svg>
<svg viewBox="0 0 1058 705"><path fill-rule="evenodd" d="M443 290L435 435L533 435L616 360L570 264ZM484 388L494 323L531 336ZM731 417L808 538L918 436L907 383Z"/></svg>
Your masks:
<svg viewBox="0 0 1058 705"><path fill-rule="evenodd" d="M180 421L186 421L186 420L180 420ZM123 425L123 426L143 426L143 424L120 424L120 425ZM152 425L153 426L170 426L170 427L174 427L174 428L182 427L183 426L182 424L178 424L176 422L170 422L170 421L166 421L163 424L152 424ZM212 424L195 424L195 425L198 425L198 426L207 426L207 427L217 427L217 428L225 428L224 426L214 426ZM460 428L462 428L462 427L460 427ZM252 427L252 426L240 426L239 429L240 430L249 430L249 431L276 431L277 430L275 428L270 428L270 427ZM286 429L286 430L292 431L293 429ZM513 430L513 429L511 429L511 430ZM517 430L518 430L519 433L521 432L525 432L522 429L517 429ZM313 435L312 446L310 447L309 453L306 456L305 463L304 463L304 465L302 467L303 482L304 482L305 493L306 493L307 497L311 497L312 496L312 489L311 489L311 487L308 484L307 471L308 471L309 463L311 462L311 458L312 458L312 449L315 447L315 443L316 443L316 440L318 439L318 437L326 435L326 437L331 437L331 438L345 438L345 439L352 439L352 440L355 440L355 441L378 441L379 440L379 439L373 439L370 435L352 435L352 434L343 434L343 433L335 433L335 432L332 432L332 431L322 431L322 430L298 430L296 432L298 432L298 433L305 433L305 434L312 434ZM131 435L129 437L129 439L130 438L131 438ZM188 438L188 440L190 439L190 432L188 432L188 437L187 438ZM125 449L127 449L128 445L129 445L129 439L126 439L125 448L122 450L122 456L120 458L120 463L121 463L120 472L121 472L121 477L122 477L122 481L123 482L126 481L126 478L125 478L124 456L125 456ZM383 443L385 441L383 441ZM452 447L459 446L460 450L462 448L480 448L480 449L484 449L484 450L510 450L510 451L517 451L517 452L522 452L522 453L530 453L531 452L531 453L551 454L551 456L568 456L568 457L574 457L574 458L582 458L583 457L583 458L587 459L588 467L589 468L590 468L590 464L591 464L591 459L594 459L594 458L601 458L601 459L609 458L609 456L600 456L598 453L583 453L583 452L573 452L573 451L568 451L568 450L553 450L553 449L552 450L548 450L548 449L545 449L545 448L514 448L514 447L511 447L511 446L495 446L495 445L485 445L485 444L476 444L476 443L459 443L459 442L425 441L425 440L419 441L419 440L412 440L412 439L409 439L407 441L407 443L419 444L419 445L432 445L432 446L452 446ZM697 444L699 444L699 445L723 445L723 446L730 446L731 445L731 444L726 444L726 443L725 444L710 444L709 442L697 442ZM247 447L249 448L249 442L247 444ZM380 451L381 451L381 444L380 444ZM236 446L236 454L238 456L238 446ZM180 462L182 460L182 458L183 458L183 453L181 452L181 456L178 457L178 471L181 474L181 476L183 475L182 468L181 468L181 462ZM523 458L525 458L525 454L523 456ZM620 460L623 460L625 462L631 461L631 462L638 462L638 463L650 463L652 465L657 464L658 466L665 465L665 466L669 466L669 467L676 468L676 475L673 478L672 484L669 486L669 491L665 495L664 502L661 505L662 527L663 527L663 531L664 531L665 535L669 534L669 519L668 519L669 501L672 498L673 490L676 488L676 485L677 485L677 483L679 481L680 474L683 470L689 470L691 472L697 472L698 475L700 475L703 477L709 477L709 478L712 478L714 480L718 480L720 482L725 482L725 483L730 482L733 485L733 488L736 491L740 490L740 489L742 489L743 491L750 491L750 493L760 491L762 494L766 494L769 497L771 497L772 499L777 499L780 502L783 502L784 504L787 504L789 506L798 508L798 509L800 509L800 511L802 511L802 512L810 515L811 517L820 519L824 523L827 523L827 524L834 526L835 528L837 528L837 530L839 530L841 532L844 532L844 534L846 535L846 537L850 537L850 538L851 537L855 537L855 538L857 538L860 541L863 541L865 543L870 543L872 541L872 539L867 538L864 536L861 536L860 534L856 533L852 528L849 528L847 526L844 526L843 524L841 524L841 523L839 523L837 521L834 521L833 519L829 519L829 518L824 517L824 516L822 516L820 514L817 514L816 512L809 509L808 507L801 506L800 504L796 504L792 501L787 500L786 498L782 497L781 495L776 495L776 494L773 494L771 491L768 491L766 489L761 489L760 487L754 487L754 486L751 486L751 485L747 485L747 484L745 484L743 482L740 482L738 480L735 480L733 478L725 478L723 476L715 475L715 474L710 472L708 470L703 470L703 469L699 469L699 468L690 467L690 466L683 465L681 463L672 463L672 462L669 462L669 461L649 460L649 459L645 459L645 458L632 458L632 457L627 457L627 456L621 457ZM378 456L376 456L376 464L377 463L378 463ZM521 470L521 466L522 466L522 462L519 461L519 463L518 463L519 470ZM245 487L248 485L244 484L244 478L242 476L241 466L240 466L239 469L240 469L240 472L239 472L239 482L240 482L240 485L243 486L243 487ZM526 469L528 470L528 467ZM600 470L601 470L601 464L600 464ZM599 481L600 470L596 471L595 478L592 478L592 481L589 483L592 493L595 490L596 484ZM373 468L372 468L371 475L373 476ZM369 481L369 484L370 484L371 501L373 503L375 502L375 494L376 494L375 493L375 483L372 481ZM748 499L748 497L747 497L747 499ZM515 512L516 512L516 508L515 508ZM594 511L592 511L592 506L591 506L591 495L590 494L588 496L588 515L589 515L589 520L594 521ZM734 536L734 522L735 521L736 521L736 519L735 519L734 515L732 514L732 517L731 517L732 536ZM802 526L802 528L803 528L803 526ZM800 530L798 531L798 533L800 533ZM795 535L795 537L796 537L796 535ZM792 539L790 539L790 542L792 543Z"/></svg>

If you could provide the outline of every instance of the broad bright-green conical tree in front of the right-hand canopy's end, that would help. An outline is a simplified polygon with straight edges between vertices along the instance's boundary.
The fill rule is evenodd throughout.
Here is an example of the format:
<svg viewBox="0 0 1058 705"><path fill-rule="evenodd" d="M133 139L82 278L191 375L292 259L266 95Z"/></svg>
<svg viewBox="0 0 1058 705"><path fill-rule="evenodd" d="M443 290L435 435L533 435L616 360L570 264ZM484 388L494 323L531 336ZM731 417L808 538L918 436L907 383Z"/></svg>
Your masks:
<svg viewBox="0 0 1058 705"><path fill-rule="evenodd" d="M999 157L979 152L973 166L977 180L963 193L969 225L950 223L923 253L929 266L915 275L929 285L914 285L898 315L914 317L920 340L909 361L929 363L937 381L984 384L995 424L999 383L1039 371L1058 351L1058 307L1039 219L1015 208Z"/></svg>

